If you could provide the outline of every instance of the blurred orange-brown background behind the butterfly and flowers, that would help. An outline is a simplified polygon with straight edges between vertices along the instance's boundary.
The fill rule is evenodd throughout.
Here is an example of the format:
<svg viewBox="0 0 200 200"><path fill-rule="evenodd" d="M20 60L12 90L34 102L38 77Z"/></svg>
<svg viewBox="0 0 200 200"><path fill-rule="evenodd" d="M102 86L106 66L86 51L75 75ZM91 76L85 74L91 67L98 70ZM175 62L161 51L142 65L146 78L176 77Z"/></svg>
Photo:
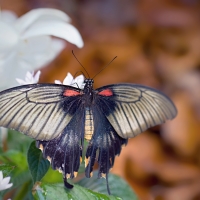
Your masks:
<svg viewBox="0 0 200 200"><path fill-rule="evenodd" d="M178 108L175 120L130 139L113 173L141 200L200 199L200 1L4 0L19 16L33 8L65 11L80 31L83 49L68 44L42 69L41 82L83 69L95 87L131 82L158 88Z"/></svg>

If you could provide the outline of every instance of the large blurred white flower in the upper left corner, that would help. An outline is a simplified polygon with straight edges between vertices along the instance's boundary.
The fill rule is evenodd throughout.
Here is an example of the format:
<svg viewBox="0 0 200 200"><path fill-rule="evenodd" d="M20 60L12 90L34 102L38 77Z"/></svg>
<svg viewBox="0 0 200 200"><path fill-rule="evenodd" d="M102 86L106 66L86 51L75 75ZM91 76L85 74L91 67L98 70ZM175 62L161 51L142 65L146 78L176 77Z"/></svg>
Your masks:
<svg viewBox="0 0 200 200"><path fill-rule="evenodd" d="M56 9L31 10L17 19L10 11L0 13L0 90L16 85L15 77L52 61L65 47L64 39L83 46L70 18ZM52 38L51 36L60 39Z"/></svg>

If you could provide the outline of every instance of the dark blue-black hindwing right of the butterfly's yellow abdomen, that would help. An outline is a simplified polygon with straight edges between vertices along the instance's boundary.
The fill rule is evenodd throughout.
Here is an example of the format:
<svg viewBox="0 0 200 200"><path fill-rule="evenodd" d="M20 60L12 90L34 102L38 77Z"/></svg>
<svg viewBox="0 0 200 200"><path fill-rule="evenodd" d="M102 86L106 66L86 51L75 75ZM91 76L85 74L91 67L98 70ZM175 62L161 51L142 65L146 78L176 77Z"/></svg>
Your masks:
<svg viewBox="0 0 200 200"><path fill-rule="evenodd" d="M94 116L94 133L89 141L86 151L85 164L86 177L92 176L93 166L97 158L99 165L99 177L106 178L109 170L113 167L115 156L121 152L122 145L127 139L121 138L108 119L103 115L97 105L92 108ZM96 155L98 153L98 155Z"/></svg>

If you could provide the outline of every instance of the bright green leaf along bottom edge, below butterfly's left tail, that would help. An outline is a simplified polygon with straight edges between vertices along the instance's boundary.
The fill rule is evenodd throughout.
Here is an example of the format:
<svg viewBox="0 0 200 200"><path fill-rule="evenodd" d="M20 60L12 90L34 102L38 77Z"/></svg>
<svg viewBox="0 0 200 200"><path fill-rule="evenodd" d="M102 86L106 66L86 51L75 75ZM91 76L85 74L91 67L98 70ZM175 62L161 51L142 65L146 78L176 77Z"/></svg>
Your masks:
<svg viewBox="0 0 200 200"><path fill-rule="evenodd" d="M34 186L35 200L121 200L112 195L100 194L74 185L73 189L65 189L63 184L44 184L37 182ZM128 199L127 199L128 200Z"/></svg>

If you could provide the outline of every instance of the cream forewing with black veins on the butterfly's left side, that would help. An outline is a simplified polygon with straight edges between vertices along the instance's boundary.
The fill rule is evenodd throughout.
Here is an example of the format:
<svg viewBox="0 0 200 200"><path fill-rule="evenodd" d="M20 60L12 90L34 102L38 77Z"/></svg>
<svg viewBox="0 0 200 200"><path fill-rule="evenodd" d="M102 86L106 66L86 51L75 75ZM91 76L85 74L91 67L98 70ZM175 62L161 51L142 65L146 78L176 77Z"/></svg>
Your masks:
<svg viewBox="0 0 200 200"><path fill-rule="evenodd" d="M79 108L78 96L80 89L57 84L23 85L2 91L0 126L37 140L54 139Z"/></svg>

